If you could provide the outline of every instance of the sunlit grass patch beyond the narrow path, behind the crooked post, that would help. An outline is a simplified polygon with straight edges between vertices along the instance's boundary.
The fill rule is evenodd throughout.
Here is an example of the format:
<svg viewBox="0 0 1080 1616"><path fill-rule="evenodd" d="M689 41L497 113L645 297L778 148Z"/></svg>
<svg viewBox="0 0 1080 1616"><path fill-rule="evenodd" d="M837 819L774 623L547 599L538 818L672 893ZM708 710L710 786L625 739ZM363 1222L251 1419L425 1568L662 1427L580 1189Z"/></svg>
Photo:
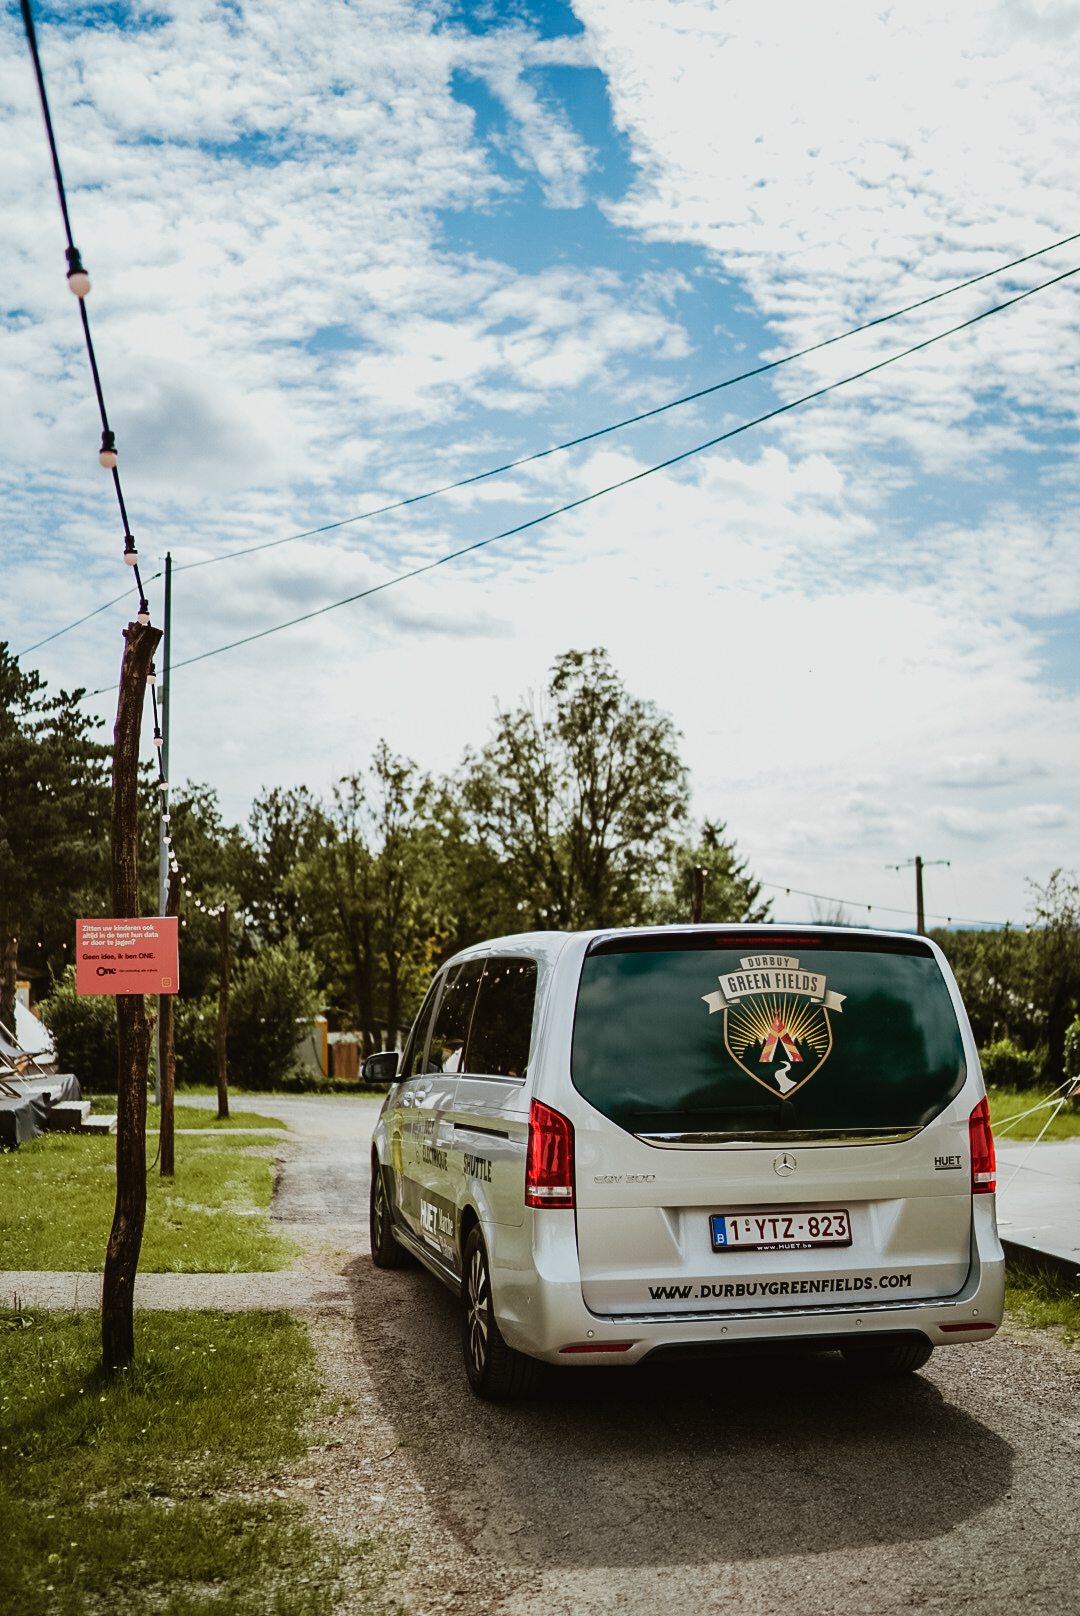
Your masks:
<svg viewBox="0 0 1080 1616"><path fill-rule="evenodd" d="M289 1267L297 1248L270 1231L273 1162L243 1152L228 1138L176 1136L176 1176L147 1173L144 1273ZM115 1202L115 1138L47 1133L0 1155L3 1267L100 1273Z"/></svg>

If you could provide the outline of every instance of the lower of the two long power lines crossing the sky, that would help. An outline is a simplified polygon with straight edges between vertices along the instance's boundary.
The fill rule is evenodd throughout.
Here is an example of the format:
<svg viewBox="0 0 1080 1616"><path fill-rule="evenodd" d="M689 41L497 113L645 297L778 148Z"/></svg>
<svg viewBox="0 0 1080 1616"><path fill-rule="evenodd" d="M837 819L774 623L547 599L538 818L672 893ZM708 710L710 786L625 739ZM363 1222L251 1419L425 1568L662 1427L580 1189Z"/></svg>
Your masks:
<svg viewBox="0 0 1080 1616"><path fill-rule="evenodd" d="M922 343L913 343L899 354L889 354L888 359L880 359L876 364L867 365L863 370L857 370L850 377L842 377L839 381L829 381L826 386L815 388L813 393L804 393L802 398L791 399L787 404L779 404L765 415L757 415L753 420L747 420L740 427L732 427L729 431L723 431L716 438L708 438L705 443L698 443L692 449L684 449L681 454L673 454L669 459L660 461L656 465L648 465L642 472L634 472L631 477L621 477L618 482L608 483L605 488L597 488L593 493L582 494L579 499L571 499L567 504L558 506L555 511L545 511L542 516L530 517L527 522L519 522L516 527L508 527L501 533L491 533L488 538L479 538L472 545L462 545L461 549L451 549L437 561L427 561L420 567L411 567L407 572L399 572L396 577L385 579L382 583L373 583L370 588L357 590L356 595L346 595L343 600L331 601L328 606L317 606L314 611L301 612L299 617L289 617L288 622L278 622L270 629L260 629L257 633L247 633L241 640L230 640L228 645L218 645L212 651L200 651L197 656L188 656L183 663L173 663L173 667L191 667L192 663L205 663L210 656L221 656L223 651L234 651L241 645L265 640L272 633L281 633L283 629L294 629L301 622L310 622L314 617L323 617L330 611L338 611L340 606L351 606L372 595L380 595L383 590L390 590L396 583L406 583L409 579L419 579L425 572L433 572L435 567L443 567L446 562L458 561L461 556L469 556L477 549L485 549L488 545L495 545L503 538L513 538L517 533L525 533L529 528L540 527L540 524L550 522L556 516L566 516L567 511L577 511L580 506L592 504L593 499L601 499L605 494L616 493L619 488L629 488L632 483L640 483L645 477L653 477L656 472L679 465L682 461L689 461L692 456L702 454L705 449L716 448L718 443L728 443L731 438L737 438L740 433L750 431L752 427L761 427L765 422L776 420L778 415L786 415L789 410L799 409L802 404L810 404L815 399L825 398L837 388L849 386L852 381L862 381L865 377L871 377L875 372L884 370L888 365L894 365L901 359L909 359L912 354L933 347L934 343L941 343L947 336L956 336L957 331L967 331L981 320L988 320L994 314L1002 314L1006 309L1012 309L1025 299L1033 297L1036 292L1043 292L1049 286L1057 286L1061 281L1070 280L1074 275L1080 275L1080 265L1072 270L1065 270L1062 275L1054 275L1040 286L1031 286L1028 291L1019 292L1006 302L994 304L991 309L983 309L981 314L973 315L970 320L962 320L959 325L949 326L946 331L938 331L936 336L928 336ZM113 687L102 685L100 690L89 690L87 695L102 695L110 688Z"/></svg>

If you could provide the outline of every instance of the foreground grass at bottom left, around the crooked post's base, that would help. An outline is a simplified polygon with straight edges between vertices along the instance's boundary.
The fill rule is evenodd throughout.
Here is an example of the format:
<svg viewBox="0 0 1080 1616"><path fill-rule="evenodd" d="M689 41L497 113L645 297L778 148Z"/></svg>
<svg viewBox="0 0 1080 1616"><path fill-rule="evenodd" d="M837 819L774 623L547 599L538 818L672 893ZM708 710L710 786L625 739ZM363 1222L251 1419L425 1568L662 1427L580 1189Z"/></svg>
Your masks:
<svg viewBox="0 0 1080 1616"><path fill-rule="evenodd" d="M372 1545L272 1493L319 1412L304 1325L137 1314L136 1346L107 1380L99 1314L0 1314L0 1611L328 1616L343 1574L365 1605Z"/></svg>

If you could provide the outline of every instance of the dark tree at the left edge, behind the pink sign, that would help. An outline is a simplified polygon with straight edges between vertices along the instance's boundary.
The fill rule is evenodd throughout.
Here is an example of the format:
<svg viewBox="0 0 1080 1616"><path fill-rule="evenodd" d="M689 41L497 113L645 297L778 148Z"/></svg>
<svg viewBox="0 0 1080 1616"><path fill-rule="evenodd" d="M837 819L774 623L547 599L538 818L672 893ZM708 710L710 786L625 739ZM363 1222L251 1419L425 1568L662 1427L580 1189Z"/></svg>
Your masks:
<svg viewBox="0 0 1080 1616"><path fill-rule="evenodd" d="M73 915L107 911L112 747L79 711L84 692L45 695L0 642L0 1016L15 1020L19 944L61 973Z"/></svg>

